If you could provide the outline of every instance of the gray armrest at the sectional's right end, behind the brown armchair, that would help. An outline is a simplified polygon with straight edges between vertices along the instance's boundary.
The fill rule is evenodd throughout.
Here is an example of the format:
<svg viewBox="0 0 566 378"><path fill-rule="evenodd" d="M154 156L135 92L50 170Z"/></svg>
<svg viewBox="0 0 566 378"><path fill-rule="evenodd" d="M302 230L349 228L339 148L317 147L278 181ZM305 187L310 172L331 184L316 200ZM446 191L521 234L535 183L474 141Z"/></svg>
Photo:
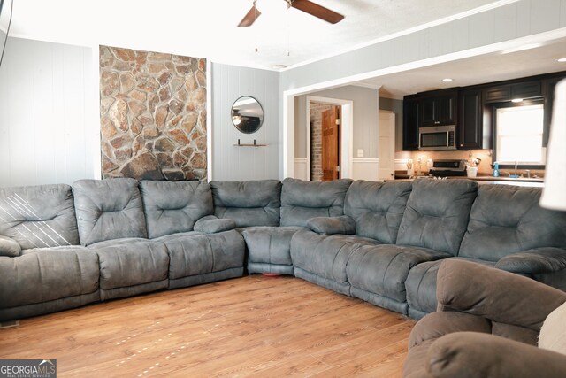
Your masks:
<svg viewBox="0 0 566 378"><path fill-rule="evenodd" d="M517 252L501 258L495 267L516 274L558 272L566 269L566 250L547 247Z"/></svg>

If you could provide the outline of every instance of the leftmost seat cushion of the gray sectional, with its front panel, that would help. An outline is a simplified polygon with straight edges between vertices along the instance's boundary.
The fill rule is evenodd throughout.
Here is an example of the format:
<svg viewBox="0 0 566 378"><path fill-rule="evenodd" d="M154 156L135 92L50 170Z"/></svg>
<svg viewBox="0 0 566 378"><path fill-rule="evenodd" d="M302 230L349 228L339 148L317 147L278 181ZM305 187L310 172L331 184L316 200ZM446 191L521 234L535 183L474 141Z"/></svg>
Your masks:
<svg viewBox="0 0 566 378"><path fill-rule="evenodd" d="M98 290L98 257L77 245L34 248L0 258L0 307L80 296Z"/></svg>

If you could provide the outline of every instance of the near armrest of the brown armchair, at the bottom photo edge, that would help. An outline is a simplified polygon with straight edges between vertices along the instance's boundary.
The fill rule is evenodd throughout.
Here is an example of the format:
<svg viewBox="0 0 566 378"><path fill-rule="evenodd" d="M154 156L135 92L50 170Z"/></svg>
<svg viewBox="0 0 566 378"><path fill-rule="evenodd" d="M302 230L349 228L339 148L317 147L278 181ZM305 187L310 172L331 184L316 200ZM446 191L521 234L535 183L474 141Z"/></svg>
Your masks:
<svg viewBox="0 0 566 378"><path fill-rule="evenodd" d="M426 371L433 377L566 376L566 355L478 332L455 332L431 344Z"/></svg>

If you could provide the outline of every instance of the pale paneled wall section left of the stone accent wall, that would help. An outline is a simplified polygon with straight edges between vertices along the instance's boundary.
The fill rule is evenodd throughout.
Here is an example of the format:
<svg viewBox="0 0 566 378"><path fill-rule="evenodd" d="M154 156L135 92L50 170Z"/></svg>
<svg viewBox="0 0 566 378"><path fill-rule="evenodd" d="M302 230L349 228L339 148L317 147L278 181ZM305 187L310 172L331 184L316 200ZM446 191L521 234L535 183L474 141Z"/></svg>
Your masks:
<svg viewBox="0 0 566 378"><path fill-rule="evenodd" d="M0 66L0 187L100 177L93 67L90 48L8 39Z"/></svg>

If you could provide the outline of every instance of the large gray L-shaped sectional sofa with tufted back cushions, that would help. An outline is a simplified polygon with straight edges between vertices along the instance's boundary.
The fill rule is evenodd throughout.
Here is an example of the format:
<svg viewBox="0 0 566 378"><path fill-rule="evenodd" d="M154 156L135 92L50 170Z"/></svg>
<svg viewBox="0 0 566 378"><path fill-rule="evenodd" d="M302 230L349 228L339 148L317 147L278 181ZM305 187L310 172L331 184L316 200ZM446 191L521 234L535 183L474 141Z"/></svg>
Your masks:
<svg viewBox="0 0 566 378"><path fill-rule="evenodd" d="M447 258L566 290L566 212L467 180L81 180L0 189L0 321L246 273L418 319Z"/></svg>

